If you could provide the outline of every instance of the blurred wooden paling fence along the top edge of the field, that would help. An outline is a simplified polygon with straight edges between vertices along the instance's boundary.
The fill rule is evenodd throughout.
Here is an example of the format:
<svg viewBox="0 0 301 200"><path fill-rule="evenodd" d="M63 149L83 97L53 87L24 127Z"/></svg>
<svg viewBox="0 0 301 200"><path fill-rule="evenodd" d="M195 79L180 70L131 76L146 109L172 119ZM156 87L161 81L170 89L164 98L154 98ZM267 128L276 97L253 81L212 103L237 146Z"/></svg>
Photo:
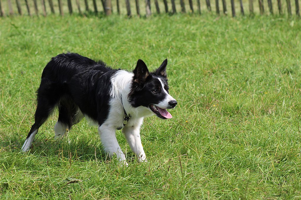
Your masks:
<svg viewBox="0 0 301 200"><path fill-rule="evenodd" d="M231 15L234 17L237 13L241 15L253 15L257 12L273 15L287 14L291 16L295 13L300 16L299 0L0 0L0 16L13 15L40 15L59 13L98 13L103 12L106 15L112 13L122 14L126 11L127 16L150 16L153 13L194 13L198 14L206 12L216 12L217 15L227 15L227 5L231 6ZM266 2L267 1L267 2ZM222 3L222 4L220 4ZM101 6L100 6L101 5ZM295 5L295 10L292 7ZM101 9L99 9L101 7ZM133 9L134 7L134 9ZM145 11L141 12L142 7ZM189 8L188 8L189 7ZM202 9L203 7L203 9ZM204 8L205 7L205 8ZM275 8L276 7L276 8ZM154 11L155 8L155 11ZM274 11L278 10L278 11ZM133 13L132 10L135 10ZM230 9L229 9L230 10ZM237 11L238 10L238 11ZM114 11L114 12L113 12ZM246 12L247 11L247 12ZM294 12L295 11L295 12ZM144 13L144 14L142 14Z"/></svg>

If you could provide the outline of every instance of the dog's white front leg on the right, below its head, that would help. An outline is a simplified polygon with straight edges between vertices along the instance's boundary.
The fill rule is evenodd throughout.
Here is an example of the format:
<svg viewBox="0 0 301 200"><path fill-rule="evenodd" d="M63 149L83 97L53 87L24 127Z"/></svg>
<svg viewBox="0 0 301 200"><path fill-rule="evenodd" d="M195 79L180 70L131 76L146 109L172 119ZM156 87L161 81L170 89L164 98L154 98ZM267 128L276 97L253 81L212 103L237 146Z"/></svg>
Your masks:
<svg viewBox="0 0 301 200"><path fill-rule="evenodd" d="M141 138L140 138L140 125L139 126L125 126L122 129L126 141L129 143L130 148L136 154L139 162L147 162L146 155L144 153Z"/></svg>

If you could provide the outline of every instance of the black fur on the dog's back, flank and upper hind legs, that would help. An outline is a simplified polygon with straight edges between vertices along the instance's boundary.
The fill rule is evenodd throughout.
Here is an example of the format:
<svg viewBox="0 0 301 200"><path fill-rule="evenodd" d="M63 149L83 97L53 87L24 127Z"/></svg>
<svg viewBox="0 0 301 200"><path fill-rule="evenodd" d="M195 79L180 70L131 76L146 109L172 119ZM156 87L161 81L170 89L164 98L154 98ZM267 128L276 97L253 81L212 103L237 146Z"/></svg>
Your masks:
<svg viewBox="0 0 301 200"><path fill-rule="evenodd" d="M42 73L37 91L36 123L33 126L38 128L43 124L56 105L59 109L59 121L69 128L74 123L73 117L78 109L101 123L107 117L109 105L97 106L97 103L109 101L109 79L114 73L116 70L107 67L104 62L79 54L60 54L52 58Z"/></svg>

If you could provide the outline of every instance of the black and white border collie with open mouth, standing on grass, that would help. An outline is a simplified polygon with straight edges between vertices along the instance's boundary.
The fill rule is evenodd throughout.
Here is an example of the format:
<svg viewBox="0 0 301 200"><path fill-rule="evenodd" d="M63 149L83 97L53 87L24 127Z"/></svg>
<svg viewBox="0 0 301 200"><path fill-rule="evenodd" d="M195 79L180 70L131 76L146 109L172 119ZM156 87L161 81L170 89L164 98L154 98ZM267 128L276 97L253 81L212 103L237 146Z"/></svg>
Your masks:
<svg viewBox="0 0 301 200"><path fill-rule="evenodd" d="M122 129L138 161L147 161L140 139L143 118L150 115L172 118L166 109L177 105L168 92L166 64L167 59L157 70L149 72L139 59L130 73L75 53L52 58L42 73L35 123L22 151L30 149L39 127L57 106L55 138L64 136L67 129L85 117L98 126L104 151L110 157L116 154L117 159L127 165L115 135L116 129Z"/></svg>

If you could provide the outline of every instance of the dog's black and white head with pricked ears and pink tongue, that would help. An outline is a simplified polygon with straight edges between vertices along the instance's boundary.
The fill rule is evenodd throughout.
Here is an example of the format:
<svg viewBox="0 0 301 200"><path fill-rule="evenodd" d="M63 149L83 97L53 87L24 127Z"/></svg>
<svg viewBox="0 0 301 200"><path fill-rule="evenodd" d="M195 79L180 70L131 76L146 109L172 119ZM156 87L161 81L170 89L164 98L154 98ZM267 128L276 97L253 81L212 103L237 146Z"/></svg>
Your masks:
<svg viewBox="0 0 301 200"><path fill-rule="evenodd" d="M177 101L168 92L166 65L167 59L157 70L149 72L146 64L139 59L133 70L134 76L129 93L129 101L133 107L144 106L162 119L172 118L166 109L177 105Z"/></svg>

